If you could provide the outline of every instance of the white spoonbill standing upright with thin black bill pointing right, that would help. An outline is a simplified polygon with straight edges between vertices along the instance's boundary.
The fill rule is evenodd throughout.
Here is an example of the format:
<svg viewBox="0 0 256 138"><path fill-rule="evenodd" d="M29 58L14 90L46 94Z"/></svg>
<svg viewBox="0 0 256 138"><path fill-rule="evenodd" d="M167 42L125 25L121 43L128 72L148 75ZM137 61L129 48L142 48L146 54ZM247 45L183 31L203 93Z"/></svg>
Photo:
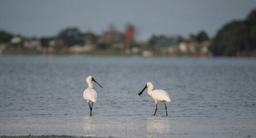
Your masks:
<svg viewBox="0 0 256 138"><path fill-rule="evenodd" d="M85 91L83 91L83 98L88 102L90 111L93 110L93 103L97 101L97 93L95 90L93 90L93 82L91 82L91 81L94 81L95 83L100 85L98 82L95 81L93 76L88 76L86 78L86 82L89 87L87 89L85 89ZM90 102L91 102L91 105L90 105ZM90 112L90 115L91 115L91 112Z"/></svg>

